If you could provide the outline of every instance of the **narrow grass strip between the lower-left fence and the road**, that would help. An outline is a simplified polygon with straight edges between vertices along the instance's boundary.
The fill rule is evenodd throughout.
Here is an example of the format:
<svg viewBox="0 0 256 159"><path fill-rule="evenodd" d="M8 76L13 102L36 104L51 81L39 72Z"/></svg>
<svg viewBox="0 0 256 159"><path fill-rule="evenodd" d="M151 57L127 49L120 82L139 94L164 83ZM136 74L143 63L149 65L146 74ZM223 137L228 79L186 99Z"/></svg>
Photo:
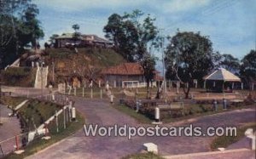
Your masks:
<svg viewBox="0 0 256 159"><path fill-rule="evenodd" d="M37 153L39 150L44 150L49 145L53 145L56 142L60 141L61 139L65 139L68 136L72 135L73 133L77 132L80 128L83 127L84 124L84 117L77 112L77 119L78 122L73 122L70 124L65 131L61 131L60 133L55 133L51 135L51 139L44 140L44 139L36 139L31 144L27 145L25 148L25 152L20 155L11 154L9 156L5 156L5 159L21 159L25 158L26 156L31 156L34 153Z"/></svg>

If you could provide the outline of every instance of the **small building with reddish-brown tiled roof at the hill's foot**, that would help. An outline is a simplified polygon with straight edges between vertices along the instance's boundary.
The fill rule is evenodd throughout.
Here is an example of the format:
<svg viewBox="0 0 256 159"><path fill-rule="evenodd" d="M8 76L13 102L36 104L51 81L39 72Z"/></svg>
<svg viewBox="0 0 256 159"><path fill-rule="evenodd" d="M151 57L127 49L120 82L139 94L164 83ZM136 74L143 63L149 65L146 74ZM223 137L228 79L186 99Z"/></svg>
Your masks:
<svg viewBox="0 0 256 159"><path fill-rule="evenodd" d="M102 71L105 81L113 87L137 87L145 82L144 71L139 63L123 63Z"/></svg>

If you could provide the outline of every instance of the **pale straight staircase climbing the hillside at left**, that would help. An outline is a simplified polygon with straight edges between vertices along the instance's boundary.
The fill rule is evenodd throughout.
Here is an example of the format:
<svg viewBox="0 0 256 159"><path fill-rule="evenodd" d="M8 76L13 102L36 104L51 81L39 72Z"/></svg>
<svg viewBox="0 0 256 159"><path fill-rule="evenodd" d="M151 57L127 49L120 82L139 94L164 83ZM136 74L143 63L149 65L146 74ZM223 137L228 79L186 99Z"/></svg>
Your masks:
<svg viewBox="0 0 256 159"><path fill-rule="evenodd" d="M48 77L48 66L42 67L42 68L38 66L34 88L42 88L42 82L43 82L43 88L45 88L47 85L47 77Z"/></svg>

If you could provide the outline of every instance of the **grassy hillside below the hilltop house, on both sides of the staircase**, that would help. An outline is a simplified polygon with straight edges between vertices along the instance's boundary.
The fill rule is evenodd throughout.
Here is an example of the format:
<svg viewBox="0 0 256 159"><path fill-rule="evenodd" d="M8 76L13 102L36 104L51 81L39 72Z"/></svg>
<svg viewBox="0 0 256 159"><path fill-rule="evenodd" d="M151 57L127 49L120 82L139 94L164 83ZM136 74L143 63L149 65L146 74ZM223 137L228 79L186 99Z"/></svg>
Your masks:
<svg viewBox="0 0 256 159"><path fill-rule="evenodd" d="M20 58L20 67L9 67L1 71L1 80L4 85L33 87L37 68L31 68L29 56L35 55L27 52ZM100 78L102 69L119 65L124 58L110 48L78 48L78 52L70 48L47 48L42 56L45 65L49 65L48 82L53 81L55 69L55 83L64 82L70 77Z"/></svg>

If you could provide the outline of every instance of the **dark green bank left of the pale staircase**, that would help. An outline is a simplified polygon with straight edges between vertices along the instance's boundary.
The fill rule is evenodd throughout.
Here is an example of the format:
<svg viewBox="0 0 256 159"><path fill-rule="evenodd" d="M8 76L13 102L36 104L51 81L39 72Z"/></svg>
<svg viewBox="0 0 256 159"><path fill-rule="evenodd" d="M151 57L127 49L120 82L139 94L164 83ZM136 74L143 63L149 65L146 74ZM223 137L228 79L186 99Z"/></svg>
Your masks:
<svg viewBox="0 0 256 159"><path fill-rule="evenodd" d="M1 71L1 81L7 86L33 87L37 69L31 67L9 67Z"/></svg>

